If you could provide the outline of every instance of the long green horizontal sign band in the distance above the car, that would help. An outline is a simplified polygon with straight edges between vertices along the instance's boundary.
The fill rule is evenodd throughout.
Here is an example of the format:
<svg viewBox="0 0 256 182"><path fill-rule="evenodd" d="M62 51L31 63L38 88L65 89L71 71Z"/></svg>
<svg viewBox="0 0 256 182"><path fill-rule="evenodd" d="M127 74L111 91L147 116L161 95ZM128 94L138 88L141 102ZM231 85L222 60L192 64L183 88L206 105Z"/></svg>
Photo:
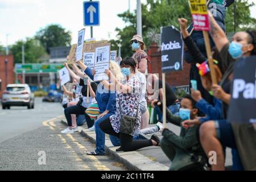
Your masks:
<svg viewBox="0 0 256 182"><path fill-rule="evenodd" d="M15 64L15 73L56 73L63 64Z"/></svg>

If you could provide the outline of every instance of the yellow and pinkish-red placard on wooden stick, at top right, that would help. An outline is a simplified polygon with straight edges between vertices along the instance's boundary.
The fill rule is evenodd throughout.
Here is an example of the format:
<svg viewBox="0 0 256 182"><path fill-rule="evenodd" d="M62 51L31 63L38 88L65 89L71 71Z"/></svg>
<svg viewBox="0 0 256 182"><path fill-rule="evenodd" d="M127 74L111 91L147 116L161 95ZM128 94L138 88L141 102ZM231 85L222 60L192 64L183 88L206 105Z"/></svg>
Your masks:
<svg viewBox="0 0 256 182"><path fill-rule="evenodd" d="M207 0L189 0L189 7L196 31L209 31Z"/></svg>

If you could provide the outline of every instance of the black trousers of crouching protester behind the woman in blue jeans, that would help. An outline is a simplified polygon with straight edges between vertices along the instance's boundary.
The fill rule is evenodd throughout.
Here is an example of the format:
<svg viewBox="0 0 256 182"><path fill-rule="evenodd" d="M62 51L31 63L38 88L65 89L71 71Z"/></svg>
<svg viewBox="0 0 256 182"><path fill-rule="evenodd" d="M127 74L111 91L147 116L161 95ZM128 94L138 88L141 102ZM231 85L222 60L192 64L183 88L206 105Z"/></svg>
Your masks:
<svg viewBox="0 0 256 182"><path fill-rule="evenodd" d="M88 128L92 127L94 125L94 121L90 119L89 115L85 113L86 109L87 108L80 105L70 106L64 109L65 117L68 121L68 126L72 126L71 114L84 114Z"/></svg>

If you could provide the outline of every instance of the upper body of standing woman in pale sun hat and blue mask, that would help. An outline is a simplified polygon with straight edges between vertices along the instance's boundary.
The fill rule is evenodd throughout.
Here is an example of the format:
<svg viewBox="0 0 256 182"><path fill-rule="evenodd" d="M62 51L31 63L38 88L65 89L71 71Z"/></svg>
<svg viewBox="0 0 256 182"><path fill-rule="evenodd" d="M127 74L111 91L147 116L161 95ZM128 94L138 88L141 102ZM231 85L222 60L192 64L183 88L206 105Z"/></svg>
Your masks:
<svg viewBox="0 0 256 182"><path fill-rule="evenodd" d="M134 51L133 59L136 59L139 63L138 71L141 73L147 73L147 65L150 63L147 53L144 51L145 43L141 35L134 35L130 40L131 48Z"/></svg>

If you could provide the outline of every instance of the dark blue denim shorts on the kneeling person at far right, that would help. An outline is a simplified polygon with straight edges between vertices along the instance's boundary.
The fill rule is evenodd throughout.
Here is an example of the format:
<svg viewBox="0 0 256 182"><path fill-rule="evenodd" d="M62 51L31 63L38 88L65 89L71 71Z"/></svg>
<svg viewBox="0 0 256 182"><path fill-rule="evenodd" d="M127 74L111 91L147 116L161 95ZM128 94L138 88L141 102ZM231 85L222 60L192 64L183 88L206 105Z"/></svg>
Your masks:
<svg viewBox="0 0 256 182"><path fill-rule="evenodd" d="M237 148L236 140L234 138L234 133L232 126L226 120L214 121L217 138L220 140L222 146Z"/></svg>

